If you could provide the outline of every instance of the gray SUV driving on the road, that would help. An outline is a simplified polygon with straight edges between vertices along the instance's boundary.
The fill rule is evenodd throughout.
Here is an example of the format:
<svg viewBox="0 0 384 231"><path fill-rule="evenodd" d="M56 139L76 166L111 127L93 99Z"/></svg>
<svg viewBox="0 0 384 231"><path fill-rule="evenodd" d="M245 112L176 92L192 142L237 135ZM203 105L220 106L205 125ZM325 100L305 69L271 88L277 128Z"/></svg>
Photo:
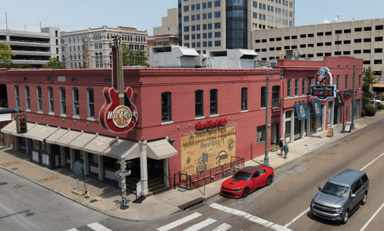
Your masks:
<svg viewBox="0 0 384 231"><path fill-rule="evenodd" d="M319 186L312 199L311 212L316 216L347 223L348 217L360 204L367 202L369 179L366 173L345 169Z"/></svg>

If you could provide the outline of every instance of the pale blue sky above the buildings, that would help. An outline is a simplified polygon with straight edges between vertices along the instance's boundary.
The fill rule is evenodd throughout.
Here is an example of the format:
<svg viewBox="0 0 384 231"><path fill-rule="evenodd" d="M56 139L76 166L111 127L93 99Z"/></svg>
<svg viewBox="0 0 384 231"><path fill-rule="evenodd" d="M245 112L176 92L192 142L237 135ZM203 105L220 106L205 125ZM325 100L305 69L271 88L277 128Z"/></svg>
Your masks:
<svg viewBox="0 0 384 231"><path fill-rule="evenodd" d="M257 1L257 0L255 0ZM292 0L290 0L292 1ZM161 26L167 9L177 0L2 0L0 29L40 32L41 27L60 31L108 26L140 31ZM384 18L384 0L295 0L295 26Z"/></svg>

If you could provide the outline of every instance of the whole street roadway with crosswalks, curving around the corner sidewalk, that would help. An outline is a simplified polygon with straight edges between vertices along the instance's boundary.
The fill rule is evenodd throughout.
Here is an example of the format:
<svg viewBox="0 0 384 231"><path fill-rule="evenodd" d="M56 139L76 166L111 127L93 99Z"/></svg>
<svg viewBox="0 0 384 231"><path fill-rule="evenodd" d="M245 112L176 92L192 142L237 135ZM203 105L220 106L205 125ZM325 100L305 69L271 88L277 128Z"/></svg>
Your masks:
<svg viewBox="0 0 384 231"><path fill-rule="evenodd" d="M275 169L274 182L247 198L216 195L189 209L151 221L108 217L0 170L0 182L6 182L0 185L0 230L382 231L384 144L380 134L383 129L384 121L378 122ZM367 173L370 179L367 203L351 215L346 225L312 215L309 206L319 191L318 186L346 168Z"/></svg>

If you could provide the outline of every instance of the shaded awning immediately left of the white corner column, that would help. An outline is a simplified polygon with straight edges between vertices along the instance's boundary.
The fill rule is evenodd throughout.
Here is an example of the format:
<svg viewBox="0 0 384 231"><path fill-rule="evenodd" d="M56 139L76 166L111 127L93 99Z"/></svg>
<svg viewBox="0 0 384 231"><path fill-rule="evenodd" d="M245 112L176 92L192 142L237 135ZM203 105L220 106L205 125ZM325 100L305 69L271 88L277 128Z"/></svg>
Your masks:
<svg viewBox="0 0 384 231"><path fill-rule="evenodd" d="M125 157L131 160L140 157L140 148L137 141L119 139L111 146L107 147L101 154L120 160Z"/></svg>

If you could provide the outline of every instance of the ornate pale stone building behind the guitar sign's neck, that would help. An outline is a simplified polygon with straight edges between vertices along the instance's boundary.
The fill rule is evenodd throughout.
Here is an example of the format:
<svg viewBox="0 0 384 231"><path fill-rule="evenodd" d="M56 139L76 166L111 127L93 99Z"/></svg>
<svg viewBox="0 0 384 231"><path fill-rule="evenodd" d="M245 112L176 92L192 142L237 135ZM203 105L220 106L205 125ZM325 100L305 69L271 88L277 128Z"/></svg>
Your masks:
<svg viewBox="0 0 384 231"><path fill-rule="evenodd" d="M148 30L122 27L88 28L61 32L61 53L63 65L75 68L111 68L111 36L120 35L123 46L129 50L147 51Z"/></svg>

